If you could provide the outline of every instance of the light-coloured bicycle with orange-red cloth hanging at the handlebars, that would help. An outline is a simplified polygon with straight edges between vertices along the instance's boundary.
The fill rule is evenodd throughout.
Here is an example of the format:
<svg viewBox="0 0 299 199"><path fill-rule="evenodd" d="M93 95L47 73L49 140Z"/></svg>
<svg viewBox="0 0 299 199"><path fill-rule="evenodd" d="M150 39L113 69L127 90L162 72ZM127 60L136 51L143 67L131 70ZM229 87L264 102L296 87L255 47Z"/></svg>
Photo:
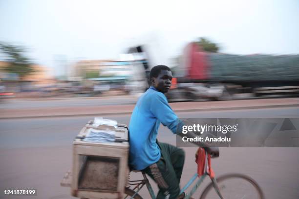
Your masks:
<svg viewBox="0 0 299 199"><path fill-rule="evenodd" d="M202 149L204 150L204 149ZM198 173L194 174L193 177L187 182L184 188L181 190L180 194L185 192L197 179L196 183L192 187L192 190L189 194L186 194L184 199L189 199L197 190L199 185L203 182L203 180L210 176L212 182L204 189L202 192L200 199L264 199L263 192L256 181L246 175L243 174L225 174L220 176L219 178L214 177L214 172L211 167L211 156L207 154L206 151L203 151L204 155L201 158L202 160L202 175ZM143 171L135 171L133 172L142 172L143 179L140 180L128 180L128 187L125 189L125 199L142 199L142 197L138 194L139 191L147 186L149 195L151 199L155 199L154 191L149 183L149 179ZM246 183L245 189L240 189L240 185L242 183ZM134 186L131 188L131 186ZM213 192L213 188L215 192ZM232 198L234 197L234 198Z"/></svg>

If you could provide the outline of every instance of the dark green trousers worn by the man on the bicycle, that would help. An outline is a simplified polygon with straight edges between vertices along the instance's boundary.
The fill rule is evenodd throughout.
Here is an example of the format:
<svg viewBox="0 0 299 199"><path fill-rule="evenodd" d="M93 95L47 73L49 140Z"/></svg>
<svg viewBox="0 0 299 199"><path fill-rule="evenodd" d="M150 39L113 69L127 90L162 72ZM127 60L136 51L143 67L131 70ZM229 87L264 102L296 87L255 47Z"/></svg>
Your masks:
<svg viewBox="0 0 299 199"><path fill-rule="evenodd" d="M180 193L180 179L185 161L185 152L167 143L157 141L161 150L161 158L143 171L152 178L159 187L157 199L176 199Z"/></svg>

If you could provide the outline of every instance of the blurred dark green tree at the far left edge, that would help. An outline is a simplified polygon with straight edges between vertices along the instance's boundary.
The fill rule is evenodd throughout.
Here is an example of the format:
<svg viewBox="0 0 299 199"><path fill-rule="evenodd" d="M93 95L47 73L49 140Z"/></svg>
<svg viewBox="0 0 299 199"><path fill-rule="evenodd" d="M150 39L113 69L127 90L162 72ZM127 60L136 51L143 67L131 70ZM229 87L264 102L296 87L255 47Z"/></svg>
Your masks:
<svg viewBox="0 0 299 199"><path fill-rule="evenodd" d="M3 60L9 63L3 68L4 71L18 74L20 79L30 73L37 72L32 66L33 62L24 55L26 53L25 47L0 42L0 52L6 55Z"/></svg>

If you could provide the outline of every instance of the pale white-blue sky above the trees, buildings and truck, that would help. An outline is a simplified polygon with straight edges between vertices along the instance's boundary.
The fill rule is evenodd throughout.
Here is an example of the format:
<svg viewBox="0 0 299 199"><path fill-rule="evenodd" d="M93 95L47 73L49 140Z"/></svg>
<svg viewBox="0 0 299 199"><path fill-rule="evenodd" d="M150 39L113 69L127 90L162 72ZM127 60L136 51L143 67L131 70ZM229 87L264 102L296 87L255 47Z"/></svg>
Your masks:
<svg viewBox="0 0 299 199"><path fill-rule="evenodd" d="M299 54L299 0L0 0L0 41L57 60L119 59L148 44L164 59L207 37L232 54Z"/></svg>

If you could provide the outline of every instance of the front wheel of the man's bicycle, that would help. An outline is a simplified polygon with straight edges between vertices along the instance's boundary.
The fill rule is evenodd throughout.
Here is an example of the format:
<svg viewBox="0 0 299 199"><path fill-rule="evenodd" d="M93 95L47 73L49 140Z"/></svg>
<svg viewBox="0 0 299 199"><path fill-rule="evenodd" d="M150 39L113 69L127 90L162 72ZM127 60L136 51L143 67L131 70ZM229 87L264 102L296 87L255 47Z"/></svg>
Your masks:
<svg viewBox="0 0 299 199"><path fill-rule="evenodd" d="M216 178L223 199L264 199L263 192L256 181L243 174L227 174ZM220 199L211 182L200 199Z"/></svg>

